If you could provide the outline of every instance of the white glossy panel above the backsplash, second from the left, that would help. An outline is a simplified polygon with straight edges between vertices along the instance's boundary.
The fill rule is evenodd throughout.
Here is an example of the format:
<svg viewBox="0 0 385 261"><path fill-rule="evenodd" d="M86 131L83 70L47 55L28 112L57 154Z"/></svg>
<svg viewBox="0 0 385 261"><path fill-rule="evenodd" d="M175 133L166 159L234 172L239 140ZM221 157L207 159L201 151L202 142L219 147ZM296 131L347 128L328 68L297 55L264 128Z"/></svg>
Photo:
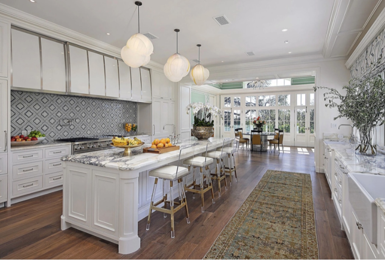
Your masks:
<svg viewBox="0 0 385 261"><path fill-rule="evenodd" d="M65 93L64 45L41 38L43 89Z"/></svg>

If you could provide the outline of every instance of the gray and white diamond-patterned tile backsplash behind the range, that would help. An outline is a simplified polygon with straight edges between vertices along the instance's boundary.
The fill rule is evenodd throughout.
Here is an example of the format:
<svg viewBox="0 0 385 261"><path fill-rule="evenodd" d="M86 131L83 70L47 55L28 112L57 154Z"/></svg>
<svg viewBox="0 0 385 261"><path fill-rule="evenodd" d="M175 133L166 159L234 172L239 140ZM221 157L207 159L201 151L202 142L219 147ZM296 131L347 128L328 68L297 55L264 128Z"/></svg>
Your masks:
<svg viewBox="0 0 385 261"><path fill-rule="evenodd" d="M70 126L60 119L73 118ZM47 140L126 134L124 123L136 123L136 103L26 91L11 91L11 135L41 130Z"/></svg>

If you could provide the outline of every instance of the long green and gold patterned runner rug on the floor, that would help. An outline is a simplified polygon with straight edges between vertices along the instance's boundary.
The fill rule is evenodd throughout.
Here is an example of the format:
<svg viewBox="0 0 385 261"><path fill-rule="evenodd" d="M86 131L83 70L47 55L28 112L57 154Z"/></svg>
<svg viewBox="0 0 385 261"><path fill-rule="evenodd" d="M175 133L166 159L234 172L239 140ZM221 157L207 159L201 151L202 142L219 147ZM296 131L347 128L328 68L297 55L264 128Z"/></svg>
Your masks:
<svg viewBox="0 0 385 261"><path fill-rule="evenodd" d="M268 170L204 259L318 259L310 174Z"/></svg>

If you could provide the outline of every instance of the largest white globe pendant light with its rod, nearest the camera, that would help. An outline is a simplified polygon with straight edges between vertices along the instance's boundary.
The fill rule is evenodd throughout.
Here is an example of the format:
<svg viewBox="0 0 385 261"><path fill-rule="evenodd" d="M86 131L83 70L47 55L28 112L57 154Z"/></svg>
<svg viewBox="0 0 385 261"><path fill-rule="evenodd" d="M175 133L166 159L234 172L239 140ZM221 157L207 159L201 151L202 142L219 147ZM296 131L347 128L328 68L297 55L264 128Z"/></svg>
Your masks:
<svg viewBox="0 0 385 261"><path fill-rule="evenodd" d="M136 1L135 4L138 6L138 33L128 39L127 44L124 45L121 51L124 63L133 68L148 64L150 55L154 51L151 40L139 33L139 7L142 5L142 2Z"/></svg>

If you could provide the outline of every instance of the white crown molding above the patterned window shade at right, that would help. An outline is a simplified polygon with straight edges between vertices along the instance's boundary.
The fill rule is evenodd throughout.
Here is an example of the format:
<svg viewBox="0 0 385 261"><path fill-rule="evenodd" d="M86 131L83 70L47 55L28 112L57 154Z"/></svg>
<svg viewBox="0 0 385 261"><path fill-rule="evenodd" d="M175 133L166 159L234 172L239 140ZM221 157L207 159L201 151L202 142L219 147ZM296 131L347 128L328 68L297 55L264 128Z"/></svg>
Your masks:
<svg viewBox="0 0 385 261"><path fill-rule="evenodd" d="M368 45L382 32L385 28L385 9L382 10L380 15L374 21L373 25L369 28L368 32L362 38L361 42L357 45L357 48L353 51L352 55L346 61L346 68L350 69L353 63L361 56L361 54L367 49Z"/></svg>

